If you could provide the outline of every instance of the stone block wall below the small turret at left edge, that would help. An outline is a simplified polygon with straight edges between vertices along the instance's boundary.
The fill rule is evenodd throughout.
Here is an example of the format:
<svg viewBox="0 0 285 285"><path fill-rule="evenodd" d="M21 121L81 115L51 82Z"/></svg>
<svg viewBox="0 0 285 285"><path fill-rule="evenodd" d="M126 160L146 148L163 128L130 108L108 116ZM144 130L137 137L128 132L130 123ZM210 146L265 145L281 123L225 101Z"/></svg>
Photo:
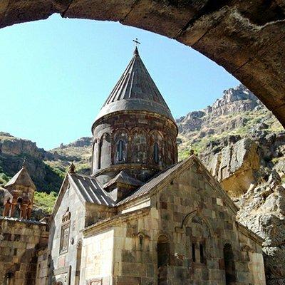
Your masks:
<svg viewBox="0 0 285 285"><path fill-rule="evenodd" d="M36 250L47 243L46 223L0 217L0 284L35 284Z"/></svg>

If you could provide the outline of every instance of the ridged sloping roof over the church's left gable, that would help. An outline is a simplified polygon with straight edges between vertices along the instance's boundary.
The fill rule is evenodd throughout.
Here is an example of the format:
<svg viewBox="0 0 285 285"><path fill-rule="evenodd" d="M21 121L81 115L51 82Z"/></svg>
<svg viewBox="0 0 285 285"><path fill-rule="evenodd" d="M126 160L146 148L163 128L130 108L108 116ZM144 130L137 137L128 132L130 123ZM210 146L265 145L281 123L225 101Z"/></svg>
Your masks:
<svg viewBox="0 0 285 285"><path fill-rule="evenodd" d="M68 173L68 176L71 178L71 182L76 185L76 189L86 202L111 207L115 205L113 199L108 195L108 192L100 187L95 177L76 173Z"/></svg>

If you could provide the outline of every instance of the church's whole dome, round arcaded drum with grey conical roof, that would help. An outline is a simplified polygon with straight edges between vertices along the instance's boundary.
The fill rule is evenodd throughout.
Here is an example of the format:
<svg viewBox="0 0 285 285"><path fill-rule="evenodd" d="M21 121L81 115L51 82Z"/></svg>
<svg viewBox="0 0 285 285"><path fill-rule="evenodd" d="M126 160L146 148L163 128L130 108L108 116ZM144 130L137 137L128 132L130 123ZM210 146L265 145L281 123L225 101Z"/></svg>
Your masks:
<svg viewBox="0 0 285 285"><path fill-rule="evenodd" d="M177 125L137 48L92 133L91 173L102 185L122 171L145 182L177 162Z"/></svg>

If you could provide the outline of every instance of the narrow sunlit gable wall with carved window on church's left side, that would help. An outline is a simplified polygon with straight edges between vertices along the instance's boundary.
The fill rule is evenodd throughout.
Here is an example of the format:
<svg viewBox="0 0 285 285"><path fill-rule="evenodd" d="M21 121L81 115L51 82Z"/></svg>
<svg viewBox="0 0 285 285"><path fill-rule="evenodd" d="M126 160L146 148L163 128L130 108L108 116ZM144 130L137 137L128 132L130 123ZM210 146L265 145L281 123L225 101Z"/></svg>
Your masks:
<svg viewBox="0 0 285 285"><path fill-rule="evenodd" d="M53 217L48 249L51 252L49 280L48 284L54 281L62 281L63 284L75 284L75 280L79 272L77 259L78 245L81 243L81 229L85 227L86 209L83 202L76 194L72 186L68 185L68 189L64 193L55 216ZM69 227L69 234L66 237L66 250L61 250L61 237L63 235L63 227Z"/></svg>

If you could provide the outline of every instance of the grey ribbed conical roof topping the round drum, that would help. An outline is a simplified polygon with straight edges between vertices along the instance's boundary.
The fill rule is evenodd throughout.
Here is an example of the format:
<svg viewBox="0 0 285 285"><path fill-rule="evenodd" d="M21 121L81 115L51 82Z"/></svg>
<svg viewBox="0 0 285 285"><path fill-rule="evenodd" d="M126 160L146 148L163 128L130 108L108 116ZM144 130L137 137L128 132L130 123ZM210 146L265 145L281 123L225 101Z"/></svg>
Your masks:
<svg viewBox="0 0 285 285"><path fill-rule="evenodd" d="M146 110L173 119L170 109L135 48L133 58L101 108L96 120L122 110Z"/></svg>

